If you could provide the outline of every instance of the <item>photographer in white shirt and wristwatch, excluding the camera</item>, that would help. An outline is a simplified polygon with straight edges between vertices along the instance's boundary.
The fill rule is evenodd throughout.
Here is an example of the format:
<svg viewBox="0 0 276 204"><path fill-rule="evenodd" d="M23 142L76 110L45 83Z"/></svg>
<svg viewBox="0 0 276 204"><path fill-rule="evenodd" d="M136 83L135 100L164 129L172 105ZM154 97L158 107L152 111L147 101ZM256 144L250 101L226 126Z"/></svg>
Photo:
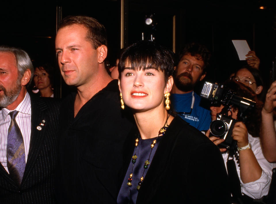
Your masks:
<svg viewBox="0 0 276 204"><path fill-rule="evenodd" d="M251 89L240 82L226 82L224 86L233 90L237 96L256 101L256 108L248 111L243 118L241 118L239 113L239 107L234 104L231 104L230 107L224 107L224 105L210 107L212 120L216 120L223 113L238 120L233 125L231 134L232 138L237 141L238 151L235 156L232 156L233 154L231 155L228 150L226 151L226 148L220 148L220 151L229 174L231 193L233 195L232 202L252 203L253 199L260 199L268 194L271 170L273 169L273 164L264 158L258 137L262 102L257 99L256 94ZM244 120L245 118L246 120ZM242 120L244 123L241 122ZM210 130L206 132L206 136L216 145L220 146L224 142L222 137L209 134ZM233 163L233 168L231 168L230 163ZM235 173L233 173L233 169L234 171L236 170Z"/></svg>

